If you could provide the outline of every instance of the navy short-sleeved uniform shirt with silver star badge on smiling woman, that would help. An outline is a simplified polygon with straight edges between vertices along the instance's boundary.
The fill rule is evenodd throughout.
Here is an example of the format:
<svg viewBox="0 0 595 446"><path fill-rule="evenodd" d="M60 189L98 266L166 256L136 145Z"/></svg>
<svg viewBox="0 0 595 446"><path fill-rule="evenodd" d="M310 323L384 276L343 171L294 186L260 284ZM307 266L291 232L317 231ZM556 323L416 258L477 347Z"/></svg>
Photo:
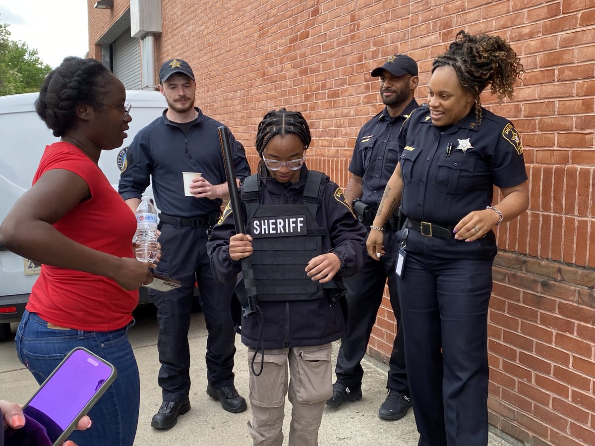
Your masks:
<svg viewBox="0 0 595 446"><path fill-rule="evenodd" d="M411 113L399 135L403 213L417 221L455 225L472 211L486 209L493 186L527 180L521 140L512 123L475 109L443 133L432 124L426 104Z"/></svg>

